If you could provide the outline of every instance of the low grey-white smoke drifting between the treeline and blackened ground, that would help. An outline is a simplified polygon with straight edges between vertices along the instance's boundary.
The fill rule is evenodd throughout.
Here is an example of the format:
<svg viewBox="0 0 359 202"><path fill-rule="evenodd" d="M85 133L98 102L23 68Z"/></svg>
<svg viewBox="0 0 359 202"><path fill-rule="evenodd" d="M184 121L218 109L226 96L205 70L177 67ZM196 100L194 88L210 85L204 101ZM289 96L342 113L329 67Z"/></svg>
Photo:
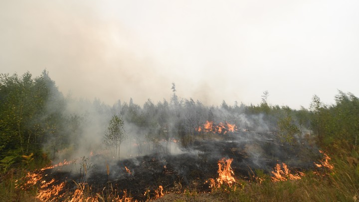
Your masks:
<svg viewBox="0 0 359 202"><path fill-rule="evenodd" d="M270 171L274 158L293 156L290 154L293 151L285 151L288 146L283 145L278 136L278 120L275 117L245 112L244 105L227 106L230 108L225 109L208 107L192 99L179 100L182 100L179 105L166 105L166 102L155 105L148 100L144 107L132 100L129 104L118 101L111 107L99 99L88 101L66 97L63 115L68 118L68 125L63 132L66 136L62 138L66 139L63 142L68 145L50 151L54 153L54 162L75 160L79 167L84 159L89 159L97 169L106 170L106 165L109 165L114 173L123 174L123 165L119 165L118 161L130 161L130 165L136 166L146 156L166 162L167 158L187 155L197 160L215 162L223 157L233 158L231 155L234 152L246 158L245 164ZM48 108L53 107L54 102L49 101ZM114 115L125 123L126 139L120 145L119 155L104 144L104 133ZM234 124L237 130L228 134L199 134L198 126L210 119L214 124ZM308 143L312 137L311 131L304 126L300 131L294 143L299 144L305 152L317 149ZM51 139L45 144L45 151L53 149L53 143ZM239 166L244 163L234 161L234 164Z"/></svg>

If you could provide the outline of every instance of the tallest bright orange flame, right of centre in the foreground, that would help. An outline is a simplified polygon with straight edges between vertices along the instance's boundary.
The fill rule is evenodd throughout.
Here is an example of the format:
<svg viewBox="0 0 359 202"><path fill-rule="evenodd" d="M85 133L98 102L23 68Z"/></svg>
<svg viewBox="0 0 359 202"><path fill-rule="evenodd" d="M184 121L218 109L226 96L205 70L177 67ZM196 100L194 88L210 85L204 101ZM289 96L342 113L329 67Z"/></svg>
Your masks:
<svg viewBox="0 0 359 202"><path fill-rule="evenodd" d="M216 180L210 178L210 188L219 188L223 184L227 184L229 187L236 182L234 179L234 173L231 168L233 159L221 159L218 161L218 178ZM208 181L207 181L208 182Z"/></svg>

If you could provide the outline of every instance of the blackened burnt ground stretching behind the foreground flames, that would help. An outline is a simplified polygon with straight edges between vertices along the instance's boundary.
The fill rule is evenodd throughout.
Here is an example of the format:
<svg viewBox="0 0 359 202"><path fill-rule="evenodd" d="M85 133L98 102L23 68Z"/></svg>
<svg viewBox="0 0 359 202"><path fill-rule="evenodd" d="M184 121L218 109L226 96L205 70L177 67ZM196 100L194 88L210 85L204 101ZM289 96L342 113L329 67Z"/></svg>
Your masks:
<svg viewBox="0 0 359 202"><path fill-rule="evenodd" d="M255 170L270 173L277 163L286 163L292 171L313 169L313 162L320 159L318 149L304 143L281 145L274 139L263 138L266 134L253 132L246 134L255 136L251 139L239 140L235 138L237 135L227 136L226 140L196 140L179 154L154 153L113 161L108 163L109 175L105 157L101 155L86 161L86 174L81 166L83 161L61 169L48 169L44 174L48 179L67 181L69 191L76 189L73 181L88 183L95 192L102 192L111 185L120 194L127 190L134 199L145 201L155 197L154 191L160 185L164 192L210 191L205 182L217 177L217 162L222 158L233 159L231 167L235 177L242 179L249 179ZM125 166L131 174L126 172ZM148 190L150 192L145 195Z"/></svg>

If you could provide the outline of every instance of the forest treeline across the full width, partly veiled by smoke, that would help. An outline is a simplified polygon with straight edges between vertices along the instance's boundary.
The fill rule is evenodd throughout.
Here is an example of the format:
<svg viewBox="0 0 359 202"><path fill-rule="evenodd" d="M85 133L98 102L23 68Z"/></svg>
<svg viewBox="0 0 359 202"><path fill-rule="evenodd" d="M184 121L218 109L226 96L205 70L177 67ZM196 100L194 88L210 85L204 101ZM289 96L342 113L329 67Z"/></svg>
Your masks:
<svg viewBox="0 0 359 202"><path fill-rule="evenodd" d="M1 74L0 170L6 172L32 160L53 159L56 152L80 144L91 121L101 120L97 122L103 128L95 135L103 137L114 116L127 128L129 138L132 133L140 134L154 148L171 138L185 147L200 135L197 129L206 121L269 131L282 144L296 144L298 137L305 136L327 150L333 145L358 144L359 100L351 93L339 91L332 105L325 105L314 95L310 109L295 110L267 103L268 92L258 105L229 105L223 101L220 106L206 106L192 98L179 98L175 84L172 91L169 101L153 103L149 99L140 106L130 99L129 103L119 100L109 106L99 99L89 102L64 97L46 70L38 77L29 72L22 76Z"/></svg>

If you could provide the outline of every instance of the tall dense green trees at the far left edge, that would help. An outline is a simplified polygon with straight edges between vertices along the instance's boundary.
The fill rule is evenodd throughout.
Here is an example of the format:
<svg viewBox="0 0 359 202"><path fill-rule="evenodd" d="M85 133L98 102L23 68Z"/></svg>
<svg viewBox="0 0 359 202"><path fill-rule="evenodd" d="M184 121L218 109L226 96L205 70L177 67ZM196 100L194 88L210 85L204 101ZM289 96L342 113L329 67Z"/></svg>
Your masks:
<svg viewBox="0 0 359 202"><path fill-rule="evenodd" d="M21 160L11 157L34 154L34 158L38 158L49 138L63 138L63 108L62 94L47 71L36 78L29 72L21 77L1 74L0 159L4 160L3 165ZM7 161L10 159L15 162Z"/></svg>

